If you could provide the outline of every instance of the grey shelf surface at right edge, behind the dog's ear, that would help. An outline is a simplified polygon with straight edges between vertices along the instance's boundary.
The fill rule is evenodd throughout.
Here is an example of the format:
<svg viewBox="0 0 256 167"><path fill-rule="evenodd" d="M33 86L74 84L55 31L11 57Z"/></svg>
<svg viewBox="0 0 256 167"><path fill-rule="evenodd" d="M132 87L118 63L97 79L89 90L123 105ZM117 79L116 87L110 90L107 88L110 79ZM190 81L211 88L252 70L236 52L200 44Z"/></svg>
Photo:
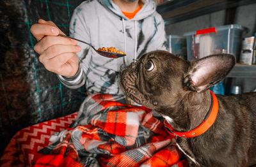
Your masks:
<svg viewBox="0 0 256 167"><path fill-rule="evenodd" d="M227 77L256 78L256 65L236 64Z"/></svg>

